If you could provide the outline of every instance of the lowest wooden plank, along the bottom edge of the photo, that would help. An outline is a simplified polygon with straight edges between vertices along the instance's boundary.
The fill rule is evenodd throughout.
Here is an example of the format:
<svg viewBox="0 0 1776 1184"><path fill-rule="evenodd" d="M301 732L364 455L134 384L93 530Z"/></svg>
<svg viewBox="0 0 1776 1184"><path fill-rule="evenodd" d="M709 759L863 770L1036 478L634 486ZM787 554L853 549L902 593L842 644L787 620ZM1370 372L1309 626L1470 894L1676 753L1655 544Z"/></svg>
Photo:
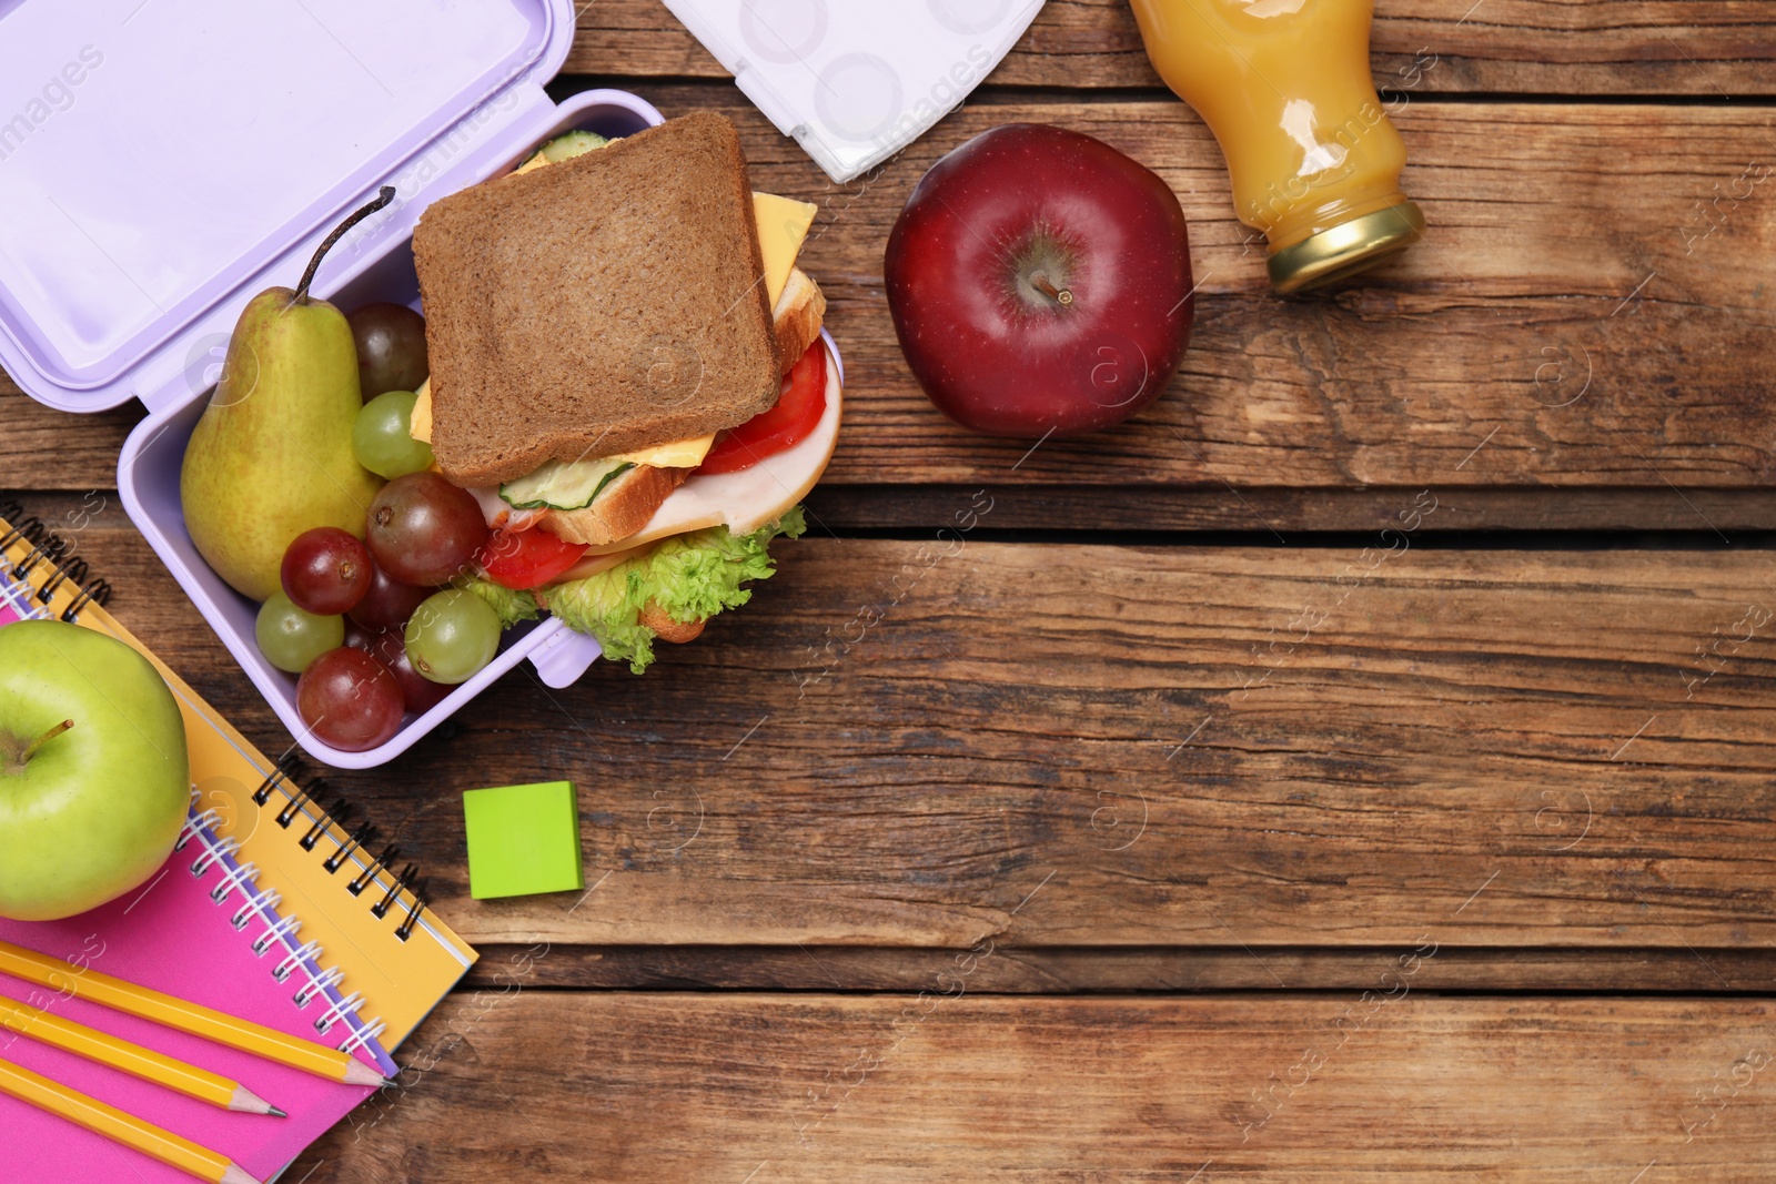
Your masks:
<svg viewBox="0 0 1776 1184"><path fill-rule="evenodd" d="M1414 982L1396 964L1330 999L971 998L961 971L890 998L490 989L433 1015L401 1085L291 1179L1776 1173L1771 1003L1444 999Z"/></svg>

